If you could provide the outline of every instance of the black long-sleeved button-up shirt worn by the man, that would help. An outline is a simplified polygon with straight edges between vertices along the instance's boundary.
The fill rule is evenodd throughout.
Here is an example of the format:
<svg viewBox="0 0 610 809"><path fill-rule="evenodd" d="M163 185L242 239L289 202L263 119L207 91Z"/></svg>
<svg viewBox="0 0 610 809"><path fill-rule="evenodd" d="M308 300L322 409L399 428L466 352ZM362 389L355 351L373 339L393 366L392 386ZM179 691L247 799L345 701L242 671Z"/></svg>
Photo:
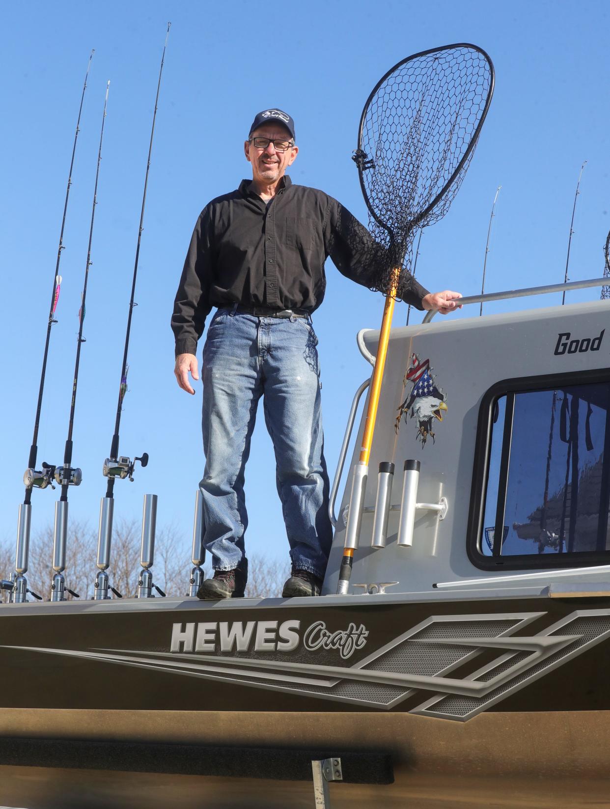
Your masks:
<svg viewBox="0 0 610 809"><path fill-rule="evenodd" d="M243 180L201 211L176 293L176 356L195 354L212 307L315 311L324 299L324 261L362 286L375 286L383 248L341 203L289 176L268 203ZM402 273L399 297L421 309L427 294Z"/></svg>

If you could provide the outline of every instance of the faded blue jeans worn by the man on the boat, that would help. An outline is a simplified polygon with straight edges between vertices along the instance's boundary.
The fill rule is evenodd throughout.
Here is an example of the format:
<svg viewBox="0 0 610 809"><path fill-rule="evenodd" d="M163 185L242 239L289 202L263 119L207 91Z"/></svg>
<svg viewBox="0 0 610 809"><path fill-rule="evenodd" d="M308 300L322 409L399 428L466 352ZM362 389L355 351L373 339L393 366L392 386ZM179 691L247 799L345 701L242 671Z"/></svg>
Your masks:
<svg viewBox="0 0 610 809"><path fill-rule="evenodd" d="M218 309L203 349L200 483L205 549L214 570L244 558L244 468L258 400L273 441L277 493L294 567L324 578L333 539L320 409L318 340L303 318Z"/></svg>

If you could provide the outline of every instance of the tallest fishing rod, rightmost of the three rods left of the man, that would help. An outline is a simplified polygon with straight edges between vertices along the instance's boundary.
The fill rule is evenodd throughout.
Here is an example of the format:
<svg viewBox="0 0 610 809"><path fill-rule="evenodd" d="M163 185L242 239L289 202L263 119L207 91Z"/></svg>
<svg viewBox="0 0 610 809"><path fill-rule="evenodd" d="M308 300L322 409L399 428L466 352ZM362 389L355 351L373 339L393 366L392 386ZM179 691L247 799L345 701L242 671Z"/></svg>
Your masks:
<svg viewBox="0 0 610 809"><path fill-rule="evenodd" d="M110 587L108 582L108 574L106 570L110 565L110 544L112 541L112 514L114 510L114 481L119 478L121 481L129 478L133 481L133 469L137 461L145 467L148 464L148 453L142 452L139 457L134 457L130 460L126 455L119 455L119 429L121 426L121 412L123 408L123 400L127 392L127 374L129 372L129 365L127 364L127 357L129 353L129 335L131 332L131 319L133 316L133 308L138 306L134 302L136 290L136 278L138 276L138 261L140 258L140 244L142 242L142 231L144 222L144 209L146 207L146 188L148 187L148 173L150 172L150 155L152 154L153 138L155 136L155 121L157 118L157 108L159 105L159 90L161 88L161 76L163 75L163 63L165 61L165 49L167 48L167 38L169 37L169 29L172 23L167 23L167 33L165 36L165 44L163 45L163 54L161 56L161 66L159 68L159 81L157 82L157 95L155 96L155 112L153 112L152 126L150 128L150 144L148 147L148 160L146 163L146 176L144 177L144 193L142 194L142 210L140 213L140 226L138 229L138 244L136 246L136 256L133 265L133 280L131 284L131 299L129 300L129 314L127 316L127 331L125 332L125 349L123 351L123 364L121 366L121 383L119 384L119 398L116 404L116 421L114 425L114 434L112 435L112 443L110 447L110 457L104 461L104 468L102 470L104 477L108 478L108 485L106 494L100 503L100 529L98 533L98 546L97 546L97 568L95 574L95 588L93 598L95 600L108 599L108 589L114 593L118 598L121 594Z"/></svg>

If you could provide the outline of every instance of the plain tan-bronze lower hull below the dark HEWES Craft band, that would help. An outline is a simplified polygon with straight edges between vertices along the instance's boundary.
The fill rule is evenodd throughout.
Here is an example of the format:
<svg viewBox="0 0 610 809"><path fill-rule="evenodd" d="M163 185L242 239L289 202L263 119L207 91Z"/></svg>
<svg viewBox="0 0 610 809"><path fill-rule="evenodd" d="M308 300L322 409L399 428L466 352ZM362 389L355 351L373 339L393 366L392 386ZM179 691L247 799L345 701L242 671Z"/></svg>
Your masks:
<svg viewBox="0 0 610 809"><path fill-rule="evenodd" d="M331 785L331 805L370 807L585 807L607 805L610 717L606 711L485 713L471 722L413 714L270 711L79 711L4 709L2 736L222 745L241 748L383 750L390 785ZM78 756L72 762L78 765ZM129 762L127 762L129 765ZM100 765L104 762L100 761ZM83 804L83 794L87 803ZM0 801L55 807L311 807L307 781L201 777L163 772L0 767Z"/></svg>

